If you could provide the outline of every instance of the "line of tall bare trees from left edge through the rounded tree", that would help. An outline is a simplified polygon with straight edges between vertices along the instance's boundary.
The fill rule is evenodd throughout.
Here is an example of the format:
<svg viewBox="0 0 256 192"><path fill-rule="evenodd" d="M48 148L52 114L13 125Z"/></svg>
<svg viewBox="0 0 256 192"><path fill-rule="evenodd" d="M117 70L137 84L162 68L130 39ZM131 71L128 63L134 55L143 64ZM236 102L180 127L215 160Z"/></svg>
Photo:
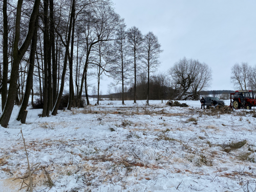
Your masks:
<svg viewBox="0 0 256 192"><path fill-rule="evenodd" d="M41 117L47 117L57 114L64 92L69 95L68 110L81 106L82 95L90 104L90 88L99 104L103 75L114 79L111 86L121 85L123 104L127 97L147 103L181 99L188 91L197 99L210 84L211 70L198 60L183 58L168 74L155 73L163 51L157 36L143 35L137 27L127 29L110 0L3 0L1 11L3 127L14 103L20 105L17 120L23 118L31 94L34 105L34 89Z"/></svg>

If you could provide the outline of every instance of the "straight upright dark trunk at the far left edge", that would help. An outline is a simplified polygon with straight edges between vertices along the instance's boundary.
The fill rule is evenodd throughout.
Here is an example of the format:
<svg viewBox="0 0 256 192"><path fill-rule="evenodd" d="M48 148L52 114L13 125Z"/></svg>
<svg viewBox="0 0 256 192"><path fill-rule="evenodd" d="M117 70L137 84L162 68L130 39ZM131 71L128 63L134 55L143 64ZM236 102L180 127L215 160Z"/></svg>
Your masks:
<svg viewBox="0 0 256 192"><path fill-rule="evenodd" d="M7 0L3 1L3 81L2 81L2 111L4 111L7 99L7 78L8 78L8 17L7 17Z"/></svg>

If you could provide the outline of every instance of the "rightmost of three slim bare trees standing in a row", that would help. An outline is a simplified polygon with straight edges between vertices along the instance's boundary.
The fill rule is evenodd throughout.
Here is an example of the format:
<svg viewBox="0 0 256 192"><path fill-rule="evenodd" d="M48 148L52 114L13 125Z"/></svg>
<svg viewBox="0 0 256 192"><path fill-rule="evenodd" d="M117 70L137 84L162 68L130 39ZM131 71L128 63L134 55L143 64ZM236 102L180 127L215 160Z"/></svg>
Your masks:
<svg viewBox="0 0 256 192"><path fill-rule="evenodd" d="M144 69L147 72L147 104L150 95L150 73L152 73L160 65L159 55L162 53L161 45L158 38L153 32L148 32L144 37L143 42L143 63Z"/></svg>

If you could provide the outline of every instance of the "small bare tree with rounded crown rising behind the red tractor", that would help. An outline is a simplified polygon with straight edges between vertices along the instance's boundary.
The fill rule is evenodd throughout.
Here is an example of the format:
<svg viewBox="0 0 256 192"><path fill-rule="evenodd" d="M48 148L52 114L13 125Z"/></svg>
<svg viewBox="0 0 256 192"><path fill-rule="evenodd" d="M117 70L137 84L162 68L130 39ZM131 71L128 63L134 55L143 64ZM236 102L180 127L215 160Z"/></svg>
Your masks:
<svg viewBox="0 0 256 192"><path fill-rule="evenodd" d="M250 76L252 68L247 62L236 63L231 68L231 83L240 90L247 90L250 86Z"/></svg>

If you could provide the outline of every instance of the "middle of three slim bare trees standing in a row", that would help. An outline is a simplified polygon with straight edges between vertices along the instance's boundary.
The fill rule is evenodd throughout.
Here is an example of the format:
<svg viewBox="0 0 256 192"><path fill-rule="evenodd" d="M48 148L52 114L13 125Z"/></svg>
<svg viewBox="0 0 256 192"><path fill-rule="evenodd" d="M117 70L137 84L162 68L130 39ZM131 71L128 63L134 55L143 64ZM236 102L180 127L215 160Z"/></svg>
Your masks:
<svg viewBox="0 0 256 192"><path fill-rule="evenodd" d="M143 36L137 27L132 27L127 31L127 40L129 43L130 55L132 57L134 68L134 102L136 103L136 75L138 64L141 60L141 53L143 51Z"/></svg>

